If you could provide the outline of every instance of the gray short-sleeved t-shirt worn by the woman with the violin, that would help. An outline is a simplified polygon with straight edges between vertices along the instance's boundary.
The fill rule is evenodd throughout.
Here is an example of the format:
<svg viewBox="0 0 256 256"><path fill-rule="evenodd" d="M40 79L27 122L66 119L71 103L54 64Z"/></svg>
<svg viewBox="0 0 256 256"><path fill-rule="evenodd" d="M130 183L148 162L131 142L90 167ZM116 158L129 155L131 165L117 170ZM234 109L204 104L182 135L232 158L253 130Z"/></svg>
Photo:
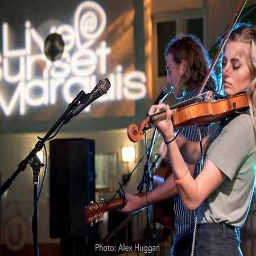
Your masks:
<svg viewBox="0 0 256 256"><path fill-rule="evenodd" d="M199 209L199 223L242 226L255 186L256 144L250 115L241 114L230 121L210 144L205 159L227 177Z"/></svg>

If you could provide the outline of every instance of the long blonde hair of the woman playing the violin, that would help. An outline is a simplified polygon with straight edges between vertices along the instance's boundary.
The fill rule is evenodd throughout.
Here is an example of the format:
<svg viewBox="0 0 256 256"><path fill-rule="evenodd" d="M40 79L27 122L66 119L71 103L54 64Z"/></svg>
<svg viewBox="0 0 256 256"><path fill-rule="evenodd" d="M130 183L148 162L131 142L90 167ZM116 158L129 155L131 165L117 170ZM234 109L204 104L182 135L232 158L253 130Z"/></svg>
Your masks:
<svg viewBox="0 0 256 256"><path fill-rule="evenodd" d="M256 27L238 27L230 34L229 40L249 45L246 61L251 73L251 82L246 89L246 93L250 106L251 119L256 130Z"/></svg>

